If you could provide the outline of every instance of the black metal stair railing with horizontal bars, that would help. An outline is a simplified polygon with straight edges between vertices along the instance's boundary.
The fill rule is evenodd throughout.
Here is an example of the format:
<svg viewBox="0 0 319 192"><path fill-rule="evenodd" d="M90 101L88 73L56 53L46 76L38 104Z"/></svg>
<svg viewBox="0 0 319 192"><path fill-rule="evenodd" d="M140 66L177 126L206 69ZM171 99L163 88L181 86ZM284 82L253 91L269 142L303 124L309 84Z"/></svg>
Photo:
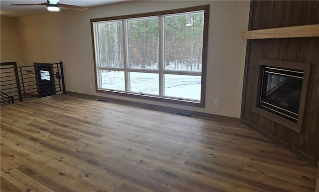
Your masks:
<svg viewBox="0 0 319 192"><path fill-rule="evenodd" d="M49 66L51 69L51 82L54 85L51 93L66 93L62 61L58 63L34 63L34 65L28 66L17 66L16 62L4 62L0 65L1 105L21 102L23 99L31 97L44 96L40 92L39 86L42 86L42 91L46 91L46 87L37 81L39 75L36 66L38 65ZM41 74L41 79L42 76ZM43 76L43 78L45 79L46 77Z"/></svg>

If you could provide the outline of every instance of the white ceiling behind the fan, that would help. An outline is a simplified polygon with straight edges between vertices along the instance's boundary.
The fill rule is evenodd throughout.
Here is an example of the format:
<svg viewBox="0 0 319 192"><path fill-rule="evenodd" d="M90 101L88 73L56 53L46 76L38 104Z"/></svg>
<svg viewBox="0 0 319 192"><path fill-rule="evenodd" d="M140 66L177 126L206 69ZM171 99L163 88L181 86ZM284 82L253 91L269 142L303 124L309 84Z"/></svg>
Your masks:
<svg viewBox="0 0 319 192"><path fill-rule="evenodd" d="M85 7L114 4L118 2L129 0L59 0L59 3L78 5ZM46 0L0 0L0 14L5 16L25 16L31 14L40 14L46 12L46 7L43 5L28 5L28 6L13 6L10 4L33 4L43 3ZM61 11L68 10L67 8L61 8ZM80 11L80 10L79 10Z"/></svg>

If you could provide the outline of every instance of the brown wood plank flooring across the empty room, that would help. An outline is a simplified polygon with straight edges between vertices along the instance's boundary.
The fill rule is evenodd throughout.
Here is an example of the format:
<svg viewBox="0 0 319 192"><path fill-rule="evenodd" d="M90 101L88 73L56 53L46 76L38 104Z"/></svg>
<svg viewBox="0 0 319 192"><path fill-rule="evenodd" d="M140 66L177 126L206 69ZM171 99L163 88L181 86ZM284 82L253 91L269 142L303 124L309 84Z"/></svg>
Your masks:
<svg viewBox="0 0 319 192"><path fill-rule="evenodd" d="M1 107L1 192L314 192L315 167L237 122L56 95Z"/></svg>

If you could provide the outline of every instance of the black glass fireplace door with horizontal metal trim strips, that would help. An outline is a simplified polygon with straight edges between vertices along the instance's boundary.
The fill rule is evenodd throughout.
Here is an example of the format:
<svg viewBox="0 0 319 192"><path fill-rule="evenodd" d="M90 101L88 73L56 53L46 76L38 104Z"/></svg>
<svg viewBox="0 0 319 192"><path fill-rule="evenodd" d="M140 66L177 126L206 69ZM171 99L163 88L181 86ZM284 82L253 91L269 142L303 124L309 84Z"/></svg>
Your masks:
<svg viewBox="0 0 319 192"><path fill-rule="evenodd" d="M259 107L297 122L303 77L303 70L263 66Z"/></svg>

